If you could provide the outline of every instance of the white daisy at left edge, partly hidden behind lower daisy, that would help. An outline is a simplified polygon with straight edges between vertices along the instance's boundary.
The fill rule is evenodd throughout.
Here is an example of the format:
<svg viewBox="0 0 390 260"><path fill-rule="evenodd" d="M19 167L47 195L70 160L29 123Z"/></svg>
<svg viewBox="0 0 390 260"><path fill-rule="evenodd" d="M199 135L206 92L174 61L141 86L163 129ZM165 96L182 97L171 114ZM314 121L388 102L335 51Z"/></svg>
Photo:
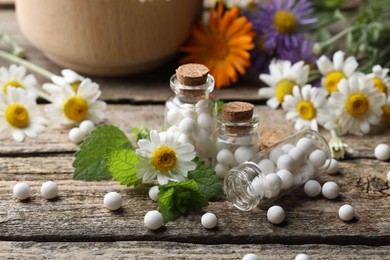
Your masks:
<svg viewBox="0 0 390 260"><path fill-rule="evenodd" d="M26 75L26 68L12 64L9 69L0 68L0 87L3 93L7 93L9 87L22 88L31 91L37 97L37 80L34 75Z"/></svg>

